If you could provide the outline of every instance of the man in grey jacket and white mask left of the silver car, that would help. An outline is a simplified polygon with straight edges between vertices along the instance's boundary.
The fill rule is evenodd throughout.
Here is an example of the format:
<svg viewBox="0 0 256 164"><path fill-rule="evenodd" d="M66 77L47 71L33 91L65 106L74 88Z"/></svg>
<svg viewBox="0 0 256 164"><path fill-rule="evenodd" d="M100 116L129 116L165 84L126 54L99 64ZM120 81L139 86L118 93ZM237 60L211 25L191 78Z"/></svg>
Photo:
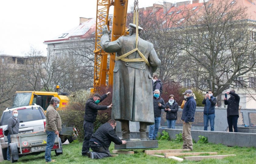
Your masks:
<svg viewBox="0 0 256 164"><path fill-rule="evenodd" d="M20 120L17 117L18 117L18 111L13 110L12 117L8 119L8 130L9 130L7 135L8 144L11 143L11 135L19 133ZM7 160L8 161L11 160L9 146L7 148Z"/></svg>

